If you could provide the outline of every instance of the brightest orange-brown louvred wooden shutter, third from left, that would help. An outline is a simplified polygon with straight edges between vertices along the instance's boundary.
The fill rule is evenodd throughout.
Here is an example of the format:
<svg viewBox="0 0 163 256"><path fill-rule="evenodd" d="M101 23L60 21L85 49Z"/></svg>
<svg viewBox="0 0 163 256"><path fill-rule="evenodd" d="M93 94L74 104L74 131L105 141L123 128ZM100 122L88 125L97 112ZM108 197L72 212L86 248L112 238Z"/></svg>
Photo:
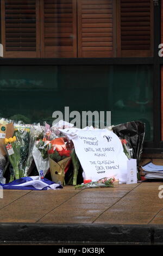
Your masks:
<svg viewBox="0 0 163 256"><path fill-rule="evenodd" d="M78 0L78 57L114 57L114 2Z"/></svg>

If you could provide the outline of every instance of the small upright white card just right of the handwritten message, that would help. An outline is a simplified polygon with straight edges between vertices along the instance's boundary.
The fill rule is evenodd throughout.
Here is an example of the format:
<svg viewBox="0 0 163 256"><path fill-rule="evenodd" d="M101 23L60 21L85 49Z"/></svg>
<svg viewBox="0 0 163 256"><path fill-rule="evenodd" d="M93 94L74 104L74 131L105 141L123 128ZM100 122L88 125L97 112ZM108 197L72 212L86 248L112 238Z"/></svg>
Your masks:
<svg viewBox="0 0 163 256"><path fill-rule="evenodd" d="M136 159L127 161L127 184L137 183Z"/></svg>

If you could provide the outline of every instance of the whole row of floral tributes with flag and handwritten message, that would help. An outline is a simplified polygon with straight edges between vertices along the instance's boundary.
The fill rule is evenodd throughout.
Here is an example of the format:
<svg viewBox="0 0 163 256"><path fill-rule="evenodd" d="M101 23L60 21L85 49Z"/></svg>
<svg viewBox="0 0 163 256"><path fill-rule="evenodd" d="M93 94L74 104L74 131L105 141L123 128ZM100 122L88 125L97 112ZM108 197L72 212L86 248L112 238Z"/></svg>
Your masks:
<svg viewBox="0 0 163 256"><path fill-rule="evenodd" d="M1 118L0 185L55 190L136 183L144 137L140 121L78 129L62 120L51 127Z"/></svg>

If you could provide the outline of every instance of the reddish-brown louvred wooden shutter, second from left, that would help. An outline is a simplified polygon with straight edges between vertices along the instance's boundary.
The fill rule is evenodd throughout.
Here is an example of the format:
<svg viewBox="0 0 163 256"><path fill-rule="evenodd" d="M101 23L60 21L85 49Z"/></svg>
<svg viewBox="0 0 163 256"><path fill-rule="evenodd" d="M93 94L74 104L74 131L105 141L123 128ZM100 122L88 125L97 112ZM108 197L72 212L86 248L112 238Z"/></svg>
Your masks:
<svg viewBox="0 0 163 256"><path fill-rule="evenodd" d="M77 57L76 0L41 0L42 57Z"/></svg>

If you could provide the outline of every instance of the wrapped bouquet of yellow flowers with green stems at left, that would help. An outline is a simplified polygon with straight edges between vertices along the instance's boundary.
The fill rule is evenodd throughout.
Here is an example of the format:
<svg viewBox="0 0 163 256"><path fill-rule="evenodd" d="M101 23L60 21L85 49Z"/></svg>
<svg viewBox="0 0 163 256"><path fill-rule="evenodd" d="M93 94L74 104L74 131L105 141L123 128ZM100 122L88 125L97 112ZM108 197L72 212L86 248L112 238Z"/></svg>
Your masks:
<svg viewBox="0 0 163 256"><path fill-rule="evenodd" d="M22 173L19 170L21 144L17 141L16 136L14 136L12 138L5 138L5 147L8 152L9 161L14 169L14 175L10 175L10 181L19 179L22 177Z"/></svg>

